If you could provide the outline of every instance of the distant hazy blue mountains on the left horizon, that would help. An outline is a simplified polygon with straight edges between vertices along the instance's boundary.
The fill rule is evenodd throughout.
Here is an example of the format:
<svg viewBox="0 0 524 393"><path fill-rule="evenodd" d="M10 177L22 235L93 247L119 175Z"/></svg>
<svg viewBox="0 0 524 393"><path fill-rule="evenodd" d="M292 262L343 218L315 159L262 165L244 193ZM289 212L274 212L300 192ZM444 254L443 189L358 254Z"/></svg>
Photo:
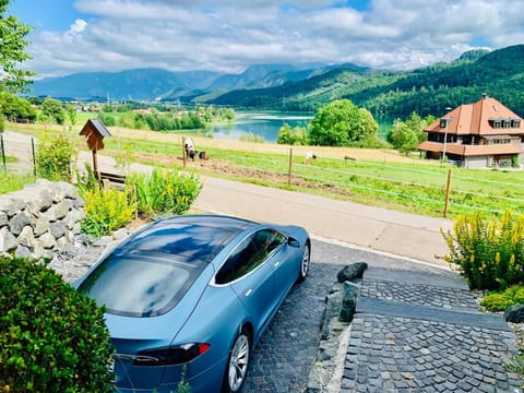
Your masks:
<svg viewBox="0 0 524 393"><path fill-rule="evenodd" d="M255 64L239 74L214 71L171 72L134 69L120 72L83 72L36 80L29 86L35 96L59 99L159 100L237 88L273 87L322 72L325 64Z"/></svg>

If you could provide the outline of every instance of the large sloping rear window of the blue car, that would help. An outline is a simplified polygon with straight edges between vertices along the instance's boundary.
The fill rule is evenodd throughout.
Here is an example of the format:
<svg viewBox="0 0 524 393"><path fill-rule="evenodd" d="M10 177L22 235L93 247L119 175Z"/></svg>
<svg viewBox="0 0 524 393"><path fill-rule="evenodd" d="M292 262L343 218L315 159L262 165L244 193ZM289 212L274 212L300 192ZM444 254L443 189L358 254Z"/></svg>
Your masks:
<svg viewBox="0 0 524 393"><path fill-rule="evenodd" d="M105 305L106 312L155 317L178 303L204 266L157 252L114 253L91 272L79 290Z"/></svg>

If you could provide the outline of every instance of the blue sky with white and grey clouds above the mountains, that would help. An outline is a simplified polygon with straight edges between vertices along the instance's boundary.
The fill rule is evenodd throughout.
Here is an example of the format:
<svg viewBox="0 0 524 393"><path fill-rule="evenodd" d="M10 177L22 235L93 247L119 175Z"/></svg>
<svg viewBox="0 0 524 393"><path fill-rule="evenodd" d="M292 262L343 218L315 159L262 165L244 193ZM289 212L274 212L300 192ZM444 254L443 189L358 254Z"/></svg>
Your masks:
<svg viewBox="0 0 524 393"><path fill-rule="evenodd" d="M406 70L524 44L524 0L11 0L37 78L352 62ZM524 61L524 59L523 59Z"/></svg>

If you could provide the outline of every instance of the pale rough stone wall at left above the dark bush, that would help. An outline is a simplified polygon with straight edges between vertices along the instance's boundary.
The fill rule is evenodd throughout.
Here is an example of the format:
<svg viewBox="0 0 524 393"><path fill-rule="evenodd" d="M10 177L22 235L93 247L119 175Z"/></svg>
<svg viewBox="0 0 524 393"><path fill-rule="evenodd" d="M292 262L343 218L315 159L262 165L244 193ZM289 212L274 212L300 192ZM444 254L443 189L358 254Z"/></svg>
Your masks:
<svg viewBox="0 0 524 393"><path fill-rule="evenodd" d="M0 254L52 259L80 235L84 206L74 186L43 179L0 195Z"/></svg>

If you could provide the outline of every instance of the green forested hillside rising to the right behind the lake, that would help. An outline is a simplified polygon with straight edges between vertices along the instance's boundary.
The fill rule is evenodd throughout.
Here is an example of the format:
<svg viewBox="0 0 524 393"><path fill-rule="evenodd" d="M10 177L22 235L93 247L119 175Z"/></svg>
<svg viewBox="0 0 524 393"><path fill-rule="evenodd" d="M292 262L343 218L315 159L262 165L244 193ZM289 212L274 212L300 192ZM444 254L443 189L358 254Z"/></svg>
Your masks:
<svg viewBox="0 0 524 393"><path fill-rule="evenodd" d="M472 51L451 63L388 72L337 67L318 76L262 90L238 90L210 104L235 107L314 110L348 98L374 116L405 118L413 111L438 115L443 108L477 100L484 92L524 115L524 45L492 52Z"/></svg>

